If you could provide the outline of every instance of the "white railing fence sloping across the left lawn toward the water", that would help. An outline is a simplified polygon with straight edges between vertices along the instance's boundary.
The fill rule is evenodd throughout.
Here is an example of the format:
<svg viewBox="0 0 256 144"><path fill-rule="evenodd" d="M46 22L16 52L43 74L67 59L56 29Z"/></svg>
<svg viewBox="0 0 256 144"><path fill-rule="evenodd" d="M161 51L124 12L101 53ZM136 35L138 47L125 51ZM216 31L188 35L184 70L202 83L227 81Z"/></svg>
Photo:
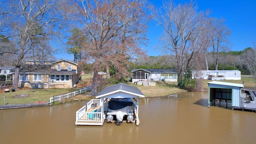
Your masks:
<svg viewBox="0 0 256 144"><path fill-rule="evenodd" d="M88 86L86 88L81 88L80 90L76 90L74 92L69 92L69 93L66 93L66 94L60 94L60 95L57 95L57 96L53 96L53 97L50 98L50 103L61 101L63 99L67 99L67 98L71 98L71 97L76 96L78 94L81 94L83 92L90 91L91 89L92 89L92 87Z"/></svg>

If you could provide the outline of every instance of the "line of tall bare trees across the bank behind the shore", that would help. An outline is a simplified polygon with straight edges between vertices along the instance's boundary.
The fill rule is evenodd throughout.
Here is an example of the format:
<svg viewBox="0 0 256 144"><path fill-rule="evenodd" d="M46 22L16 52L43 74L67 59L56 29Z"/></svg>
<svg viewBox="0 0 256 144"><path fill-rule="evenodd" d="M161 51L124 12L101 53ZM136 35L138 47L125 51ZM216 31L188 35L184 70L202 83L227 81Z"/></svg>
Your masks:
<svg viewBox="0 0 256 144"><path fill-rule="evenodd" d="M164 0L159 7L148 0L7 0L0 4L0 60L2 65L11 61L15 66L15 89L24 60L52 60L61 52L73 54L81 69L94 73L91 95L97 94L99 71L120 81L130 75L131 68L176 68L182 84L190 70L227 69L232 64L235 69L248 69L241 65L245 58L238 58L242 54L225 52L230 36L225 20L212 18L210 10L198 11L193 1ZM150 20L163 28L158 48L163 56L148 57L143 48Z"/></svg>

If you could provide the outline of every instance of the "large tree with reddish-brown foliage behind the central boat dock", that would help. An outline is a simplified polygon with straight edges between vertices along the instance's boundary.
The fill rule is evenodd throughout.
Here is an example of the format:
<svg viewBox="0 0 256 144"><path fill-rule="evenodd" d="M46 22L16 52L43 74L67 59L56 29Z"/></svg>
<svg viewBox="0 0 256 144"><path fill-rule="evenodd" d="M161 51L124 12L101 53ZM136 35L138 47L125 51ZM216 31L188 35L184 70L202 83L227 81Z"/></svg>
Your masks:
<svg viewBox="0 0 256 144"><path fill-rule="evenodd" d="M121 76L130 55L143 53L138 43L146 40L146 6L146 0L80 0L67 8L72 19L84 26L88 39L83 47L88 59L94 62L91 95L97 94L102 66L107 72L110 66L114 67Z"/></svg>

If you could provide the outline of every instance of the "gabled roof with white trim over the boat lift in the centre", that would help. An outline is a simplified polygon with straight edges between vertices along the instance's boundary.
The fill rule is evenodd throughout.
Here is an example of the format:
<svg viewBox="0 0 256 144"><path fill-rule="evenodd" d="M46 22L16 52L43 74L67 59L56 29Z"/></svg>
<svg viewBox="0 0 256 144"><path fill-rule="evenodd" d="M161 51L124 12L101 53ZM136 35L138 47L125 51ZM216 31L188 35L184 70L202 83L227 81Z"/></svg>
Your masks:
<svg viewBox="0 0 256 144"><path fill-rule="evenodd" d="M121 94L120 94L121 93ZM115 98L132 98L132 97L142 97L144 94L135 86L130 86L128 84L120 83L104 88L96 98L102 98L104 96L111 96Z"/></svg>

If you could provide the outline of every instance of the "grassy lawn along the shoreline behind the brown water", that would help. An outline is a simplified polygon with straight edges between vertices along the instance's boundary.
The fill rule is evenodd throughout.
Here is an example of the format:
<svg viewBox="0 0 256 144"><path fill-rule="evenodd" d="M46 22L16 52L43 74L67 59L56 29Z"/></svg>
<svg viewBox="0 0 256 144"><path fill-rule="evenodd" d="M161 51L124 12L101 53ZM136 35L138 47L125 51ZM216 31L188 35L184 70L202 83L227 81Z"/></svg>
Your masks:
<svg viewBox="0 0 256 144"><path fill-rule="evenodd" d="M211 82L212 80L201 80L202 90L208 90L207 82ZM255 83L253 78L251 77L242 77L241 80L223 80L222 82L231 82L242 84L244 81L245 88L254 88ZM34 92L30 88L22 88L21 90L16 90L15 92L4 92L3 90L0 92L0 105L4 105L4 96L6 96L5 104L26 104L26 103L34 103L35 101L50 101L50 97L58 94L68 93L79 88L82 88L88 85L88 82L82 83L78 85L77 88L72 89L35 89ZM168 96L170 94L176 94L181 92L187 92L186 90L180 89L177 87L177 82L162 82L157 81L156 86L142 86L136 85L134 83L128 83L131 86L136 86L146 98L150 97L160 97L160 96ZM26 97L15 98L17 95L28 95ZM82 101L82 100L91 100L95 98L95 96L90 96L89 92L84 94L77 95L75 97L65 99L64 102L72 102L72 101ZM62 102L63 103L63 102Z"/></svg>

